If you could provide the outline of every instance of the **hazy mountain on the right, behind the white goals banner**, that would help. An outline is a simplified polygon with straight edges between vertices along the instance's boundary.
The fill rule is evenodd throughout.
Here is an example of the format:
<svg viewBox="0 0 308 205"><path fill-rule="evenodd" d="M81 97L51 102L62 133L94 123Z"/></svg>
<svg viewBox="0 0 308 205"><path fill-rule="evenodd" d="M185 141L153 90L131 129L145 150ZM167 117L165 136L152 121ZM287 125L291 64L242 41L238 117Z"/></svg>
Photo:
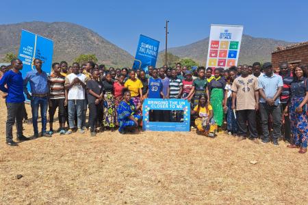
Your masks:
<svg viewBox="0 0 308 205"><path fill-rule="evenodd" d="M252 36L243 35L239 64L251 65L255 61L271 61L271 53L277 48L277 46L287 46L290 44L294 44L294 42L285 42L283 40L274 40L270 38L254 38ZM172 53L181 58L188 57L201 65L205 65L208 47L209 38L205 38L186 46L170 48L168 49L168 53ZM161 51L160 53L164 53L164 51Z"/></svg>

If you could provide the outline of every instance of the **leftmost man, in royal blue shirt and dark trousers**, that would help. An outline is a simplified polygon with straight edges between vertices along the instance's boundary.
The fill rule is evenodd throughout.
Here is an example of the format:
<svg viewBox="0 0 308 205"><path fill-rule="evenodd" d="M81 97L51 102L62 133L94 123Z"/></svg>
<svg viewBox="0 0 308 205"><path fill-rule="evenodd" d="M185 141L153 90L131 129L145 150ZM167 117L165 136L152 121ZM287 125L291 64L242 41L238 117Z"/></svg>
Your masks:
<svg viewBox="0 0 308 205"><path fill-rule="evenodd" d="M8 93L5 102L8 109L8 120L6 120L6 143L9 146L18 146L13 141L12 128L16 120L17 139L25 141L29 138L23 136L23 77L20 70L23 69L23 62L20 59L11 61L12 70L5 72L0 80L0 90Z"/></svg>

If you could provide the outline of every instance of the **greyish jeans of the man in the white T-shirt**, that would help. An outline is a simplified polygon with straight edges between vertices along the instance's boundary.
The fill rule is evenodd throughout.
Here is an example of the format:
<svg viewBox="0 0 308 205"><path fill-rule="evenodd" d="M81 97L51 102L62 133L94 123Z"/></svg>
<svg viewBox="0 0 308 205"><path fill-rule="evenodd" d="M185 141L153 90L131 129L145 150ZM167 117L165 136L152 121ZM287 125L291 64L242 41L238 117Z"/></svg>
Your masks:
<svg viewBox="0 0 308 205"><path fill-rule="evenodd" d="M82 126L82 113L84 110L84 100L68 100L68 123L70 128L75 128L75 113L77 111L77 128Z"/></svg>

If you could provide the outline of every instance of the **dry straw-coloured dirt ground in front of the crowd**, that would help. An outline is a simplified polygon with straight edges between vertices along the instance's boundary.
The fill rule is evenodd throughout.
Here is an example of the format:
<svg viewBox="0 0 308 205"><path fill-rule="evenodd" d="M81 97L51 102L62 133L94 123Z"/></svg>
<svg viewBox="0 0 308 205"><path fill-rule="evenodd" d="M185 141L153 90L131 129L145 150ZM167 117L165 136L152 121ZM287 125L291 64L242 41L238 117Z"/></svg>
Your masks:
<svg viewBox="0 0 308 205"><path fill-rule="evenodd" d="M308 154L283 142L105 131L9 147L0 107L0 204L308 204Z"/></svg>

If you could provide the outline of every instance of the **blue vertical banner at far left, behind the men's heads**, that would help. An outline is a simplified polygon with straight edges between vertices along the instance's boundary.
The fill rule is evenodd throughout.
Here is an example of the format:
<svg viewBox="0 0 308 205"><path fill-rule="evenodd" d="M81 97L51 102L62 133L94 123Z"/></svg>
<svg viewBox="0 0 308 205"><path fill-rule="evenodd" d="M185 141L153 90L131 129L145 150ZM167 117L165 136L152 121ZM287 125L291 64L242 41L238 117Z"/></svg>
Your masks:
<svg viewBox="0 0 308 205"><path fill-rule="evenodd" d="M36 58L42 60L42 70L50 73L53 60L53 41L38 36L35 33L22 30L18 59L23 61L23 70L21 70L23 77L30 70L36 69L34 67L34 59Z"/></svg>

